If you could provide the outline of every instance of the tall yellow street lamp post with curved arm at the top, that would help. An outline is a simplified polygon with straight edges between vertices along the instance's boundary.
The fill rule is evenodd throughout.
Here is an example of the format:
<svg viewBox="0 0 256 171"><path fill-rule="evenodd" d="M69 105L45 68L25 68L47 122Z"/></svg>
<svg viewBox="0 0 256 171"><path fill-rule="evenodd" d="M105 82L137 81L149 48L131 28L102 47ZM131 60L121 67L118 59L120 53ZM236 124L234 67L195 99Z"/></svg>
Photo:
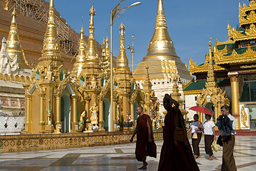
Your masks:
<svg viewBox="0 0 256 171"><path fill-rule="evenodd" d="M119 4L116 5L116 7L110 11L110 109L111 109L111 131L114 131L114 108L113 108L113 22L114 22L114 17L116 17L116 14L118 11L122 9L126 9L129 7L135 7L137 5L140 5L141 2L135 2L132 5L129 5L124 8L119 9L119 5L121 2L125 0L120 0Z"/></svg>

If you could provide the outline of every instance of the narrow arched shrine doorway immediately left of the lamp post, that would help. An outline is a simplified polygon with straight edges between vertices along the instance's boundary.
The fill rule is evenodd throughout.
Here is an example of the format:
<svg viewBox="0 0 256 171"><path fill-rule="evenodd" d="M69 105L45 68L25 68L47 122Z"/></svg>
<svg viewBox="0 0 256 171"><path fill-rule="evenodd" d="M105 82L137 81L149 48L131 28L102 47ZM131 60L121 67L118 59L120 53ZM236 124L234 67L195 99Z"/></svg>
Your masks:
<svg viewBox="0 0 256 171"><path fill-rule="evenodd" d="M103 100L103 120L105 131L111 131L110 101L105 98Z"/></svg>

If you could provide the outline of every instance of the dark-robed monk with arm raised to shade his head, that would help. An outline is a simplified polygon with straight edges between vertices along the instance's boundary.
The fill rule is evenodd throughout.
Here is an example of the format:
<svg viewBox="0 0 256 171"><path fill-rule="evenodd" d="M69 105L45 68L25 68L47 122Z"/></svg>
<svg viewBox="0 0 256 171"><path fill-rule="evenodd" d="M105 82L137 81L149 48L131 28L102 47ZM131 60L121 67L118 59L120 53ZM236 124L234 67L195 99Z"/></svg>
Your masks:
<svg viewBox="0 0 256 171"><path fill-rule="evenodd" d="M185 122L178 102L165 94L164 108L167 109L167 115L164 120L164 143L158 171L199 170L187 138Z"/></svg>

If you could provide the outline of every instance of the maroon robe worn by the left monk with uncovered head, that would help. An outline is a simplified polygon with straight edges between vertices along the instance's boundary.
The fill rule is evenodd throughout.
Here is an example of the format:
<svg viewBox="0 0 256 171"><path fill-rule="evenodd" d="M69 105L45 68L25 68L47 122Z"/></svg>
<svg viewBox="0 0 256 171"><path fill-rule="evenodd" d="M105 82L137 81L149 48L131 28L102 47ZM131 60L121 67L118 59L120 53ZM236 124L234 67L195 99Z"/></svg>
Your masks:
<svg viewBox="0 0 256 171"><path fill-rule="evenodd" d="M151 140L152 143L148 143L149 134L148 127L146 122L149 122L150 130L151 130ZM156 158L156 144L153 139L153 130L151 124L151 118L149 115L143 114L137 118L137 141L136 141L136 149L135 156L139 162L142 162L143 157L155 157Z"/></svg>

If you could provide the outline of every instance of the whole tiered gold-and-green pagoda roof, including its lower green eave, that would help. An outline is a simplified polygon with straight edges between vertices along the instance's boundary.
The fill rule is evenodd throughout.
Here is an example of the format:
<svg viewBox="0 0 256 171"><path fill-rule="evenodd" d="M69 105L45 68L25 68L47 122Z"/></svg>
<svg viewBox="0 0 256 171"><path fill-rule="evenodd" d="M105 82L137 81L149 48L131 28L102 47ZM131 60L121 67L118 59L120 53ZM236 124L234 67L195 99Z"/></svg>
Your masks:
<svg viewBox="0 0 256 171"><path fill-rule="evenodd" d="M216 40L212 52L212 63L216 74L217 85L228 85L228 70L243 70L256 68L256 2L249 5L239 2L239 27L234 28L228 23L228 40ZM205 88L207 71L209 69L209 54L206 61L197 65L190 59L190 73L196 76L196 81L184 87L184 93L200 93Z"/></svg>

